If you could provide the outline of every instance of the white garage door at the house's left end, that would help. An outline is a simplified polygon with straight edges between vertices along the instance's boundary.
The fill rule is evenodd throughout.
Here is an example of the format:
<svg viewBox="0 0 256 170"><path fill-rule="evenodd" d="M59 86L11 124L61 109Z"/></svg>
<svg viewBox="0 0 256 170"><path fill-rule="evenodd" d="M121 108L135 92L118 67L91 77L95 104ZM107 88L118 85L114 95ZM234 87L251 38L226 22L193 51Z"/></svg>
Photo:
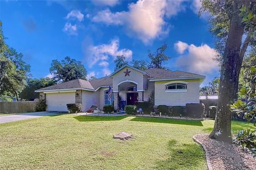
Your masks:
<svg viewBox="0 0 256 170"><path fill-rule="evenodd" d="M69 103L75 103L75 92L46 94L47 111L68 111Z"/></svg>

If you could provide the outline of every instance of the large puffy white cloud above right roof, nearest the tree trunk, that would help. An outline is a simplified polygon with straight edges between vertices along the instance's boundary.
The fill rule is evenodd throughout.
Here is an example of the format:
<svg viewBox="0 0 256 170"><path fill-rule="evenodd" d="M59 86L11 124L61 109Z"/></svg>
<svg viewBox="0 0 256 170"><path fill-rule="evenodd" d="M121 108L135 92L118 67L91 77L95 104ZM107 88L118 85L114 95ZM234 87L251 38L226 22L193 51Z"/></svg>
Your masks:
<svg viewBox="0 0 256 170"><path fill-rule="evenodd" d="M218 54L206 44L195 46L188 45L188 53L177 58L176 66L189 72L198 74L212 73L219 70L218 62L213 58Z"/></svg>

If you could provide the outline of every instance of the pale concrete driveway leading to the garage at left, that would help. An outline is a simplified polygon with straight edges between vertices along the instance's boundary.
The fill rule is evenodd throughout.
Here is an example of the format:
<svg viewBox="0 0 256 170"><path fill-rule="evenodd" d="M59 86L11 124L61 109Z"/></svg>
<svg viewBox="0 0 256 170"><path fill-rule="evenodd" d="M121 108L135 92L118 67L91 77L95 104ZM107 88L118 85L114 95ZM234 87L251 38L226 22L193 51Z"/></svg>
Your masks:
<svg viewBox="0 0 256 170"><path fill-rule="evenodd" d="M21 121L26 120L29 118L37 118L37 117L43 117L43 116L51 116L56 115L61 112L31 112L31 113L21 113L17 115L6 115L6 116L0 116L0 123L7 123L7 122L14 122L14 121Z"/></svg>

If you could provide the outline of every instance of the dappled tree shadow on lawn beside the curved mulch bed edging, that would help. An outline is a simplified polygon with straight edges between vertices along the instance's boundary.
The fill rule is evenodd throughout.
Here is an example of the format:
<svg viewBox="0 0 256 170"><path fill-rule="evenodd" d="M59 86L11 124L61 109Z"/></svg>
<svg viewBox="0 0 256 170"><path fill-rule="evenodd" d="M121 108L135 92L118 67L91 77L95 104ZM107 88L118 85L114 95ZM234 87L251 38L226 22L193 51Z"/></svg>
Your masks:
<svg viewBox="0 0 256 170"><path fill-rule="evenodd" d="M176 140L168 143L169 156L166 160L156 162L156 169L203 169L205 155L203 149L193 144L180 144Z"/></svg>

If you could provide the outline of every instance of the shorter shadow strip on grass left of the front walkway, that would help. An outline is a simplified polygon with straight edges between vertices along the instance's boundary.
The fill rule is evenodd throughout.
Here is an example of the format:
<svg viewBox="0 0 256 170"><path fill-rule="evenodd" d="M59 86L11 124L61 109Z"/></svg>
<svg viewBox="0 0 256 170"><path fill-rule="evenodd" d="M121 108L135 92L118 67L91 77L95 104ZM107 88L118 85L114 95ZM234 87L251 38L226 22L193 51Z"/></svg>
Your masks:
<svg viewBox="0 0 256 170"><path fill-rule="evenodd" d="M74 118L80 122L95 122L95 121L120 121L128 116L75 116Z"/></svg>

